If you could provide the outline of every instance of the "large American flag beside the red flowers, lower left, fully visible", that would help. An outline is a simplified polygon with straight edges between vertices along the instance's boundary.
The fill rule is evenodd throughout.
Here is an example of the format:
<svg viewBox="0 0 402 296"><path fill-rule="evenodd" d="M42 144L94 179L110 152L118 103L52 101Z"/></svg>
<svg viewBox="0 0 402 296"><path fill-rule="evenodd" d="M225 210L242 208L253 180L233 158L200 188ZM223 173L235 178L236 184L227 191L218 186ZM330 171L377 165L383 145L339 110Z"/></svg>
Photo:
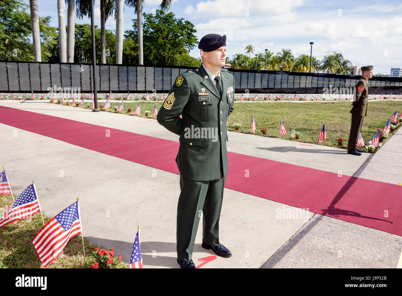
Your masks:
<svg viewBox="0 0 402 296"><path fill-rule="evenodd" d="M33 237L32 244L42 266L45 267L59 257L70 238L81 232L78 201L76 201L51 218Z"/></svg>

